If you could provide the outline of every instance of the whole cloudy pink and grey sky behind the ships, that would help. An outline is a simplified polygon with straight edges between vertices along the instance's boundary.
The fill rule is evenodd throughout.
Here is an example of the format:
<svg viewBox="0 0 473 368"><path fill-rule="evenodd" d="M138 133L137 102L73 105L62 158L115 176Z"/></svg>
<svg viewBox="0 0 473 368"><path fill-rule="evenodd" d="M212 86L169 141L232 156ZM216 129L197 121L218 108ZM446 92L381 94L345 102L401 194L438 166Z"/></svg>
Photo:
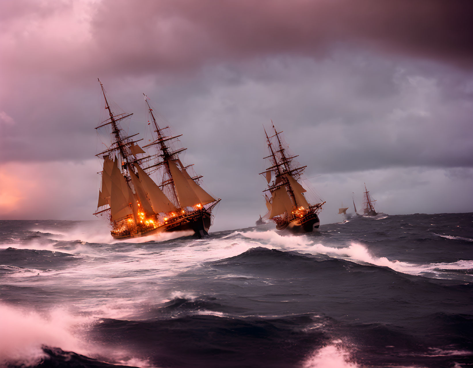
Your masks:
<svg viewBox="0 0 473 368"><path fill-rule="evenodd" d="M95 219L97 78L131 133L142 93L222 198L213 230L265 212L263 124L327 203L473 211L469 0L0 2L0 219Z"/></svg>

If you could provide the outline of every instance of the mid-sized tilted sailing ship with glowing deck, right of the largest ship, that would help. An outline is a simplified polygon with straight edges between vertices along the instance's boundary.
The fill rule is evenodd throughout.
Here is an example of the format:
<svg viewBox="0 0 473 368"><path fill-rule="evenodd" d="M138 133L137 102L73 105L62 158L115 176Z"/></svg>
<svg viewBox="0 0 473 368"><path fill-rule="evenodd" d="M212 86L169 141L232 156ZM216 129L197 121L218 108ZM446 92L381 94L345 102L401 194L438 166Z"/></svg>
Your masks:
<svg viewBox="0 0 473 368"><path fill-rule="evenodd" d="M315 204L307 202L303 194L307 190L299 183L301 174L307 166L299 166L294 160L298 155L290 155L287 145L283 145L281 141L282 131L276 131L274 124L272 128L274 135L271 137L268 136L266 129L264 130L270 152L265 158L270 160L271 166L260 173L265 175L268 183L268 188L263 193L271 194L271 198L265 195L267 217L275 222L278 230L287 229L294 233L310 232L319 227L318 213L325 202L320 199Z"/></svg>

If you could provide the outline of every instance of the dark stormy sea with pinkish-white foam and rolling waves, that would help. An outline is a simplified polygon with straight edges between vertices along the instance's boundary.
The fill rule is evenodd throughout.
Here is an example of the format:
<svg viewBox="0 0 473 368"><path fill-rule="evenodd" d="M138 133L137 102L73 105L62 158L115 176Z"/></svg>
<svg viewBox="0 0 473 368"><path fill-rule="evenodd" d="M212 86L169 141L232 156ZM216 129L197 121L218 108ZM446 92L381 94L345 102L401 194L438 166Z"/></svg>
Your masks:
<svg viewBox="0 0 473 368"><path fill-rule="evenodd" d="M0 366L473 367L473 213L131 241L0 223Z"/></svg>

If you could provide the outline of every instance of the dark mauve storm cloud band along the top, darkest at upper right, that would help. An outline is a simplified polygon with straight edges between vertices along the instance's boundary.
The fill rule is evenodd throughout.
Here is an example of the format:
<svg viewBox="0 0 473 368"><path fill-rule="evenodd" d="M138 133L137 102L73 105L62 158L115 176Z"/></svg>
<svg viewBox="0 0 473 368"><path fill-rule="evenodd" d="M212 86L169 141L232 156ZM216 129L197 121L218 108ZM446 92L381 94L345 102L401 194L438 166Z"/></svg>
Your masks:
<svg viewBox="0 0 473 368"><path fill-rule="evenodd" d="M473 62L473 3L468 0L105 0L92 32L105 51L104 63L135 72L212 59L320 55L333 44L350 42Z"/></svg>

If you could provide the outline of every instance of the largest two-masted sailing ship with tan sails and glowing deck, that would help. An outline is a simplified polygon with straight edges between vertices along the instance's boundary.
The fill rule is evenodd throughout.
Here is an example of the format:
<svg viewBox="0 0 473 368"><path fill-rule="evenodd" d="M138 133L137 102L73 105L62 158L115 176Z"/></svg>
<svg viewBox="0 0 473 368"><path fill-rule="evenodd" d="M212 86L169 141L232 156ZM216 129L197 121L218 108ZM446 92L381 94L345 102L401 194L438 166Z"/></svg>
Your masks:
<svg viewBox="0 0 473 368"><path fill-rule="evenodd" d="M109 117L96 129L111 128L111 145L96 156L103 158L102 185L95 215L105 215L114 238L142 237L164 231L193 230L206 235L212 222L212 209L220 202L198 184L202 176L188 173L172 141L181 135L165 135L169 127L159 128L148 99L146 103L154 126L153 141L142 148L137 134L125 136L120 121L132 114L114 114L100 82ZM146 96L145 96L146 98ZM151 123L150 123L151 124ZM107 129L108 130L108 129ZM162 177L160 184L151 174ZM159 177L159 176L158 176Z"/></svg>

